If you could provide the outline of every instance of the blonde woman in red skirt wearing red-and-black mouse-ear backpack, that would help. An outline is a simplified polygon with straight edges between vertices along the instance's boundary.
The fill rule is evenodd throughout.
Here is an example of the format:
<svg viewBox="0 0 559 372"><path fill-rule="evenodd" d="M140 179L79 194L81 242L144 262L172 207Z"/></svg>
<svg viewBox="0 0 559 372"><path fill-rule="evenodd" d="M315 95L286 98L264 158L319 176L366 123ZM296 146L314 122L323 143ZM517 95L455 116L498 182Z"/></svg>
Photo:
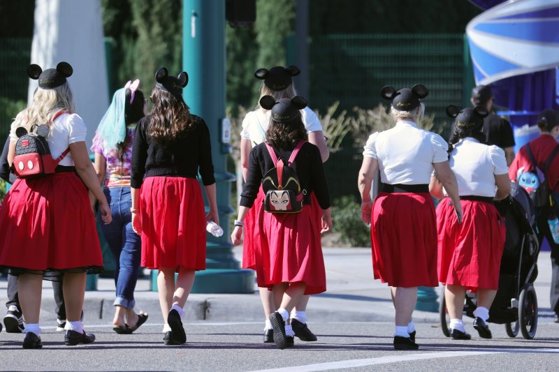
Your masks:
<svg viewBox="0 0 559 372"><path fill-rule="evenodd" d="M59 280L64 276L66 345L95 340L93 334L85 333L80 321L86 273L103 269L87 188L99 200L104 223L110 223L111 214L87 154L87 128L73 113L72 92L66 82L72 72L66 62L45 71L35 64L29 66L27 75L39 80L38 89L31 106L17 115L10 133L9 163L14 162L18 137L36 125L38 135L46 138L50 155L59 160L55 173L17 179L0 208L0 267L8 267L10 274L18 276L24 348L43 346L38 324L43 277ZM31 168L29 164L33 165L18 161L13 166L23 171Z"/></svg>

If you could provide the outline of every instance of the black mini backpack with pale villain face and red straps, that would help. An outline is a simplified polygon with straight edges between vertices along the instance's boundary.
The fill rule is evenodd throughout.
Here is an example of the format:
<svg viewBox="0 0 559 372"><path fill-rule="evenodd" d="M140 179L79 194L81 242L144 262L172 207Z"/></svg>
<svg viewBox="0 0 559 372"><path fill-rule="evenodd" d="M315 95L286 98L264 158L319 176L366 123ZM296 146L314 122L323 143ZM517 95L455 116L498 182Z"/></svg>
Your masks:
<svg viewBox="0 0 559 372"><path fill-rule="evenodd" d="M297 213L303 209L303 191L299 184L297 172L292 168L293 162L305 141L301 140L293 149L287 165L279 159L274 149L266 142L275 168L268 170L262 181L262 189L266 194L264 198L264 211L270 213Z"/></svg>

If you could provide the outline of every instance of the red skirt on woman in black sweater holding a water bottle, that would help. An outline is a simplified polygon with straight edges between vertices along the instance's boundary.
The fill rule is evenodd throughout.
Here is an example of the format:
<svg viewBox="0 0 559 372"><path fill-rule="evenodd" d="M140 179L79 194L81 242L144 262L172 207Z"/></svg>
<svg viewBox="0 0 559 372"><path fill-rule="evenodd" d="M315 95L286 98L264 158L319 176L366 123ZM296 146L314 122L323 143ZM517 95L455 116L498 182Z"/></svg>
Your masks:
<svg viewBox="0 0 559 372"><path fill-rule="evenodd" d="M205 209L198 181L147 177L140 189L142 264L205 269Z"/></svg>

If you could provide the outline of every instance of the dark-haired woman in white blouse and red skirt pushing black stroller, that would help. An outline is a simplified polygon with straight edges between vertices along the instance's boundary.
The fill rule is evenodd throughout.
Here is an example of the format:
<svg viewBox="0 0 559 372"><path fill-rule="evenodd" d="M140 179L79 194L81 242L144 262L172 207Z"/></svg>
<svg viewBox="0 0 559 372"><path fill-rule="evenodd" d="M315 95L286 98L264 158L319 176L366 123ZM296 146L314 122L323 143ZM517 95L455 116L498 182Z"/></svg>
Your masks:
<svg viewBox="0 0 559 372"><path fill-rule="evenodd" d="M465 291L470 290L477 292L474 328L479 336L491 338L486 321L499 288L505 234L504 221L493 200L510 193L507 160L500 147L484 144L481 130L488 114L485 107L459 111L450 105L447 113L456 118L456 131L449 141L449 163L458 181L464 219L458 223L449 198L437 207L439 281L447 285L444 296L451 337L471 338L462 322ZM444 196L436 176L431 178L430 190L436 198Z"/></svg>

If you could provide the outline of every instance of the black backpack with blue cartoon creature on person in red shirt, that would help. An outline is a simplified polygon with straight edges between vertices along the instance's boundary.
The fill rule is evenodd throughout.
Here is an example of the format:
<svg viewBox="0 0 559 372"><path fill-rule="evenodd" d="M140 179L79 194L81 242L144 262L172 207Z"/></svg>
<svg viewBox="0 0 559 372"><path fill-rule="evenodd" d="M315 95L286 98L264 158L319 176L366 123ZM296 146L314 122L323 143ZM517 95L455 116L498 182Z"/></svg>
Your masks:
<svg viewBox="0 0 559 372"><path fill-rule="evenodd" d="M520 168L518 172L516 172L516 182L528 192L536 208L547 207L553 204L551 202L551 191L553 190L549 190L546 172L551 162L553 162L553 158L555 158L559 152L559 145L553 149L542 170L540 170L537 165L534 153L532 153L532 149L530 149L530 143L526 144L526 151L528 152L530 163L532 163L532 169L524 170L524 168Z"/></svg>

